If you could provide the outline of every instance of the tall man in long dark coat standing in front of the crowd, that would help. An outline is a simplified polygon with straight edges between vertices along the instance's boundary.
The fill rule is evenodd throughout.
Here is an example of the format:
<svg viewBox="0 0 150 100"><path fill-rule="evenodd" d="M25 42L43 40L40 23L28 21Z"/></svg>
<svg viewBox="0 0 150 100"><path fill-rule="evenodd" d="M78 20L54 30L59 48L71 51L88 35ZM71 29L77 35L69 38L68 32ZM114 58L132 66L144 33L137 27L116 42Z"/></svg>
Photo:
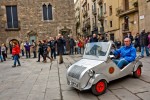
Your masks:
<svg viewBox="0 0 150 100"><path fill-rule="evenodd" d="M62 64L64 62L63 57L62 57L62 55L64 53L64 41L62 39L61 34L58 34L57 49L58 49L58 52L59 52L59 64Z"/></svg>

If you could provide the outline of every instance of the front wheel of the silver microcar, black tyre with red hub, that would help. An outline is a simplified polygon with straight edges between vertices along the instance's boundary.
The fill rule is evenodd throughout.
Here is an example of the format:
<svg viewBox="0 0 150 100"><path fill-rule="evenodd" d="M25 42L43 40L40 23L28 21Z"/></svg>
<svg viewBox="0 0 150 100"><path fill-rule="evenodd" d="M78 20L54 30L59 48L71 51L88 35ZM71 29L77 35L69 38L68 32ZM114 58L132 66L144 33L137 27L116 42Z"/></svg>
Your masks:
<svg viewBox="0 0 150 100"><path fill-rule="evenodd" d="M93 85L92 88L91 88L92 93L96 96L105 93L106 89L107 89L106 80L100 80L95 85Z"/></svg>

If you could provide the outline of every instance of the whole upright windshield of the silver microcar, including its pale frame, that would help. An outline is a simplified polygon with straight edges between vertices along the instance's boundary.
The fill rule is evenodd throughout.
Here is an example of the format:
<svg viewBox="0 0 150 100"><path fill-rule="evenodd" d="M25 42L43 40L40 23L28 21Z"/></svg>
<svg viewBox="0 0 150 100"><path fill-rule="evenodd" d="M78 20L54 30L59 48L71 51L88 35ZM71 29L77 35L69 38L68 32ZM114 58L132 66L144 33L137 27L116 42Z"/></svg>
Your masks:
<svg viewBox="0 0 150 100"><path fill-rule="evenodd" d="M110 52L111 42L87 43L83 58L106 61Z"/></svg>

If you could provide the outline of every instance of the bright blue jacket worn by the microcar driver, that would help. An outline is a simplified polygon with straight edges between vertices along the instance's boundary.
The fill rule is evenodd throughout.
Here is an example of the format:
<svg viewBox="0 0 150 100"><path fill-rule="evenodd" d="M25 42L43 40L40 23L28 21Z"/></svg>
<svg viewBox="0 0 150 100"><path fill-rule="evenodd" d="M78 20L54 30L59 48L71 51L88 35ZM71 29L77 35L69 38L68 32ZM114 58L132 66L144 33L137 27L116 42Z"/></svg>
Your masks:
<svg viewBox="0 0 150 100"><path fill-rule="evenodd" d="M114 51L114 55L120 54L120 59L125 59L128 62L132 62L136 58L136 49L130 45L130 46L123 46L118 50Z"/></svg>

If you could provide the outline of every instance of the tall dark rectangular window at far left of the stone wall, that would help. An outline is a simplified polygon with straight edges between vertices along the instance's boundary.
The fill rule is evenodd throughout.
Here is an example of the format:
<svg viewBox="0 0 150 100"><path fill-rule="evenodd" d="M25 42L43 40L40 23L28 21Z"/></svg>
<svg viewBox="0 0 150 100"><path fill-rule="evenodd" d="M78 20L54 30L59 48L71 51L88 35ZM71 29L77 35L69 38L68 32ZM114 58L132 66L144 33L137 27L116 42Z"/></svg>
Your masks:
<svg viewBox="0 0 150 100"><path fill-rule="evenodd" d="M18 28L17 6L6 6L7 28Z"/></svg>

